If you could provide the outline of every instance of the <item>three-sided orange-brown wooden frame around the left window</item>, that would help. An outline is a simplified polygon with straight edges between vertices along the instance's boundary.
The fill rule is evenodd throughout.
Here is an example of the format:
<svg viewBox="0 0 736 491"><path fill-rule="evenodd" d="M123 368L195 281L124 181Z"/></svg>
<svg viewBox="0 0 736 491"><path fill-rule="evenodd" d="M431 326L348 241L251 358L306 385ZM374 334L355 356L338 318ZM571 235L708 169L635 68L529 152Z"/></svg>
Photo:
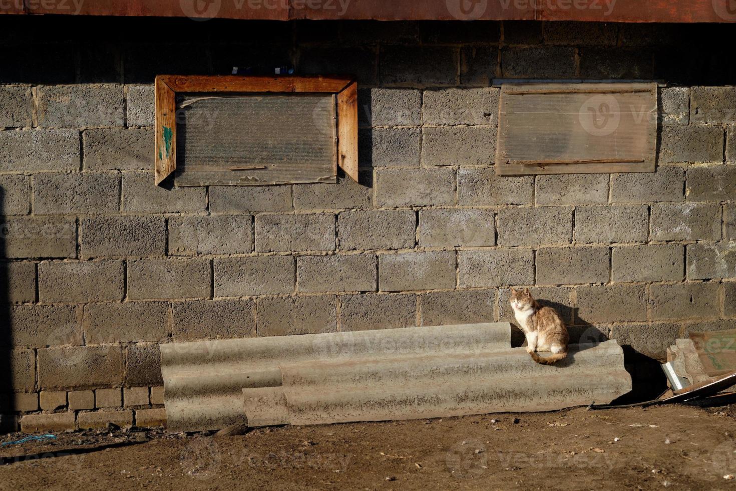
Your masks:
<svg viewBox="0 0 736 491"><path fill-rule="evenodd" d="M358 182L358 83L344 76L242 77L158 75L155 82L155 183L177 168L177 93L333 93L337 113L337 166Z"/></svg>

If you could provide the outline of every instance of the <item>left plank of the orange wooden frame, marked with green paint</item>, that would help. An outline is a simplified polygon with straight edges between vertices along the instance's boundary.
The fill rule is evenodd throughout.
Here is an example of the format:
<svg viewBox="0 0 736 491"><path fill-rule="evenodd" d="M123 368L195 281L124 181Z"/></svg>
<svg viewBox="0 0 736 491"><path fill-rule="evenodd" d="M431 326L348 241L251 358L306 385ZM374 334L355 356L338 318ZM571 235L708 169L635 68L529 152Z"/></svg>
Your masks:
<svg viewBox="0 0 736 491"><path fill-rule="evenodd" d="M156 77L156 143L155 143L155 183L169 177L177 168L177 124L176 99L174 91L160 77Z"/></svg>

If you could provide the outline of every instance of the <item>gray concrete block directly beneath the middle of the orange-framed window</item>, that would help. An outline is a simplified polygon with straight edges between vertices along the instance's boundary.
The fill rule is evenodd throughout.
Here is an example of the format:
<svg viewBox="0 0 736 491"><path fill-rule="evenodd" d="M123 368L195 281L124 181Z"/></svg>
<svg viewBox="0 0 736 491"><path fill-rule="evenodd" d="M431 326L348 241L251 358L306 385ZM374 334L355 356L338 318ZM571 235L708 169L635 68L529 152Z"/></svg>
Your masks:
<svg viewBox="0 0 736 491"><path fill-rule="evenodd" d="M210 211L214 213L289 210L291 210L291 186L210 187Z"/></svg>

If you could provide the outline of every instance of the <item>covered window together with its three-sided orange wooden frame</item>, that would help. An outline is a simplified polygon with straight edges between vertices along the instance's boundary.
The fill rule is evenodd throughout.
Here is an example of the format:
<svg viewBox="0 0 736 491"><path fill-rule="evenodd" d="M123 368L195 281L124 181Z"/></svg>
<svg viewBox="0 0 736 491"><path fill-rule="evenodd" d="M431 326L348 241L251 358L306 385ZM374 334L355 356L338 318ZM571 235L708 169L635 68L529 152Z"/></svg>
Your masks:
<svg viewBox="0 0 736 491"><path fill-rule="evenodd" d="M358 180L358 87L349 77L156 77L155 183Z"/></svg>

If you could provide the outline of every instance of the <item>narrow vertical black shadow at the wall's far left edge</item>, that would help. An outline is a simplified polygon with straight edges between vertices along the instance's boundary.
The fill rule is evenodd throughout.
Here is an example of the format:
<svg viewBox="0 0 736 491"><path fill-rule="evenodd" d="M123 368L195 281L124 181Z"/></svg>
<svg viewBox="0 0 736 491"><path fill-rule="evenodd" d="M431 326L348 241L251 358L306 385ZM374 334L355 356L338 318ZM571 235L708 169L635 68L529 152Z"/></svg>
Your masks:
<svg viewBox="0 0 736 491"><path fill-rule="evenodd" d="M16 430L15 396L13 394L13 363L11 356L11 330L13 319L10 318L10 272L7 268L5 253L5 237L7 225L5 216L5 189L0 186L0 434L12 433Z"/></svg>

